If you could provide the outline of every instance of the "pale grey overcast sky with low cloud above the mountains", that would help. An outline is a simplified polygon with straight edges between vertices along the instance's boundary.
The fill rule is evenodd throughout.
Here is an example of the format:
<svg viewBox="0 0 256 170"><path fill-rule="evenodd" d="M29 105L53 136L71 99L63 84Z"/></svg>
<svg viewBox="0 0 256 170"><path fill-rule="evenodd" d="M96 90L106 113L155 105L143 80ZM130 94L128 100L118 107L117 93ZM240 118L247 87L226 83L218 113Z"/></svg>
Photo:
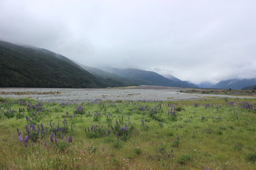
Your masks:
<svg viewBox="0 0 256 170"><path fill-rule="evenodd" d="M255 0L0 0L0 40L193 83L252 78L255 8Z"/></svg>

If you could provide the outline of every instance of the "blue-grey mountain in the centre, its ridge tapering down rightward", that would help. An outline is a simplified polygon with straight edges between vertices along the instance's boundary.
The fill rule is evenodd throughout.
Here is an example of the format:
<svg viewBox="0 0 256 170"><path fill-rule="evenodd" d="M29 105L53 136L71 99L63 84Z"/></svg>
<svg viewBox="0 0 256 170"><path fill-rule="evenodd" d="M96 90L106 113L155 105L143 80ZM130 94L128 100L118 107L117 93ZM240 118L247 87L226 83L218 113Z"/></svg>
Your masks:
<svg viewBox="0 0 256 170"><path fill-rule="evenodd" d="M154 85L154 86L176 86L176 87L195 87L183 81L173 81L166 77L157 74L156 72L144 71L141 69L116 69L108 68L108 72L117 74L119 77L129 79L139 85Z"/></svg>

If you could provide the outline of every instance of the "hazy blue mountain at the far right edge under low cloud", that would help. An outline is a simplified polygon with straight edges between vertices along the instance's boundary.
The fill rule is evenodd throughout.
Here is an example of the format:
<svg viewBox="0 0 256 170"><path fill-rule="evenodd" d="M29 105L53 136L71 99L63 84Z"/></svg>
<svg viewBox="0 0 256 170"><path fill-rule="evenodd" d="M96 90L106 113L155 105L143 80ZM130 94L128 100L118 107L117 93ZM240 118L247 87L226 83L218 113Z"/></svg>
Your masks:
<svg viewBox="0 0 256 170"><path fill-rule="evenodd" d="M242 89L247 86L253 86L256 84L255 79L230 79L225 81L220 81L215 84L213 88L215 89Z"/></svg>

